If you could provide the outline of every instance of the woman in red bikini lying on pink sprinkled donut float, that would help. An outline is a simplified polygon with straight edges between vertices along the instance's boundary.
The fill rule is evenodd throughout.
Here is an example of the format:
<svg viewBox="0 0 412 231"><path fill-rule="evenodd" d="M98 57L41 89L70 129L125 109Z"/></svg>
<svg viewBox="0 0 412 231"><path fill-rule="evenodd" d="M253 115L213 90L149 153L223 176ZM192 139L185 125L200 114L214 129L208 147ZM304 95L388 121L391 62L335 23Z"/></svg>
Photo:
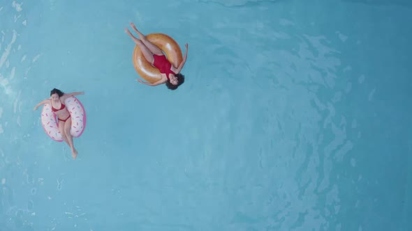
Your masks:
<svg viewBox="0 0 412 231"><path fill-rule="evenodd" d="M76 159L78 156L78 151L75 149L73 145L73 137L70 134L71 129L71 116L70 113L66 109L66 105L63 104L64 100L68 97L73 95L84 95L84 92L80 93L62 93L61 90L54 88L50 92L50 99L45 99L42 102L38 103L34 107L34 111L38 109L39 106L43 104L50 104L52 105L52 111L57 115L59 120L59 130L61 136L63 137L64 141L70 146L71 148L71 155L73 159Z"/></svg>

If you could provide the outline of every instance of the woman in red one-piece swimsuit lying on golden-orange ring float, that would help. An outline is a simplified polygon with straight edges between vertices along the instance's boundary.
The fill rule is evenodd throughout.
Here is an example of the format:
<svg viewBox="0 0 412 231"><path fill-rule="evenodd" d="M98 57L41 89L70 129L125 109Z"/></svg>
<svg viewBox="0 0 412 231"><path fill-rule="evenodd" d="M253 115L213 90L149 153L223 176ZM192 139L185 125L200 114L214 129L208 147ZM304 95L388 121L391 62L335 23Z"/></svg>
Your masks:
<svg viewBox="0 0 412 231"><path fill-rule="evenodd" d="M166 86L168 86L170 90L177 89L178 86L184 83L184 75L180 74L180 71L182 70L184 63L186 63L188 49L187 43L184 45L184 47L186 47L186 53L184 54L183 61L180 63L179 67L175 67L168 61L165 54L163 54L163 51L159 47L154 45L152 42L149 42L145 35L136 29L133 22L131 22L130 25L133 30L138 33L140 39L135 38L135 36L133 36L128 29L125 29L126 33L130 35L133 41L140 47L143 56L145 56L147 61L149 61L149 63L154 67L157 67L162 73L162 79L156 83L148 83L139 79L140 83L144 83L149 86L158 86L159 84L166 83Z"/></svg>

